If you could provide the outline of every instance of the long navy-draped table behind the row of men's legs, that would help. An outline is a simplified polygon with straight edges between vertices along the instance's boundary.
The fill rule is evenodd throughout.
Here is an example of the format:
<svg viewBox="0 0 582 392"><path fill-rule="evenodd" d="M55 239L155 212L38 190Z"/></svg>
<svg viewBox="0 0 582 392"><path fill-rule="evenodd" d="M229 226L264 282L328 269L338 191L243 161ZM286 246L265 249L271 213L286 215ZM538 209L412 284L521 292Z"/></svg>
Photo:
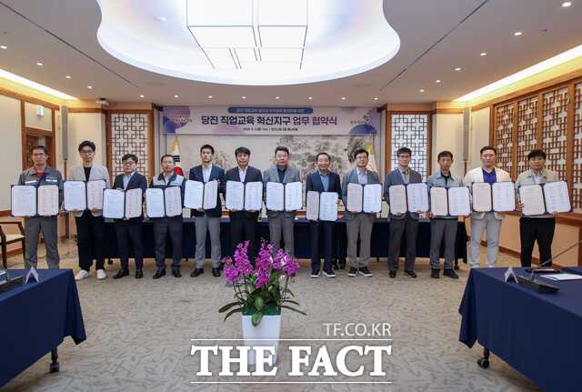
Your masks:
<svg viewBox="0 0 582 392"><path fill-rule="evenodd" d="M371 238L371 256L387 257L388 256L388 237L389 222L386 218L376 219L372 229ZM117 237L115 236L115 223L105 221L105 258L118 258L119 250L117 248ZM295 222L295 256L297 258L311 258L311 235L309 233L309 221L306 218L298 218ZM269 226L267 219L262 219L258 223L258 238L269 238ZM144 256L154 257L154 227L151 221L144 221ZM231 254L231 236L230 236L230 219L222 218L220 225L220 243L222 246L222 256ZM193 258L196 254L196 228L193 218L184 219L184 235L182 240L183 256ZM320 244L322 245L322 244ZM323 246L323 245L322 245ZM445 246L441 246L441 256ZM334 235L334 258L346 259L347 236L346 221L341 218L336 222L336 232ZM418 236L416 237L416 256L428 257L430 253L430 220L421 219L418 225ZM403 237L401 256L406 255L406 236ZM170 241L166 244L166 256L172 256ZM206 257L210 257L210 238L206 235ZM467 230L464 222L458 223L457 245L455 258L462 259L467 263Z"/></svg>

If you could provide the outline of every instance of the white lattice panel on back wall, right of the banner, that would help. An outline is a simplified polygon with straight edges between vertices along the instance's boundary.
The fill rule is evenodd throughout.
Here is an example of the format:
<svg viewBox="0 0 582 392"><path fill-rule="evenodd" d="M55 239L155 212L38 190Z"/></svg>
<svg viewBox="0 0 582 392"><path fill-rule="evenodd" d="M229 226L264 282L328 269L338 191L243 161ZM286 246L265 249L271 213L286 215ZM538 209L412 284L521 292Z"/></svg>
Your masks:
<svg viewBox="0 0 582 392"><path fill-rule="evenodd" d="M398 166L396 151L400 147L412 150L410 167L422 174L423 180L428 176L428 116L424 114L392 115L392 159L391 168Z"/></svg>

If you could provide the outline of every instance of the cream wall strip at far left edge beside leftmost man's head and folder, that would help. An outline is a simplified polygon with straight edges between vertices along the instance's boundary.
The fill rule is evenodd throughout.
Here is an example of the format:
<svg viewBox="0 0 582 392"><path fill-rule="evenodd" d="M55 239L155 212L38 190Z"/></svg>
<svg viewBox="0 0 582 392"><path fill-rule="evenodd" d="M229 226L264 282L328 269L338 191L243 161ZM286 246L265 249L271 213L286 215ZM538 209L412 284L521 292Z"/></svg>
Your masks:
<svg viewBox="0 0 582 392"><path fill-rule="evenodd" d="M22 168L20 101L0 95L0 210L10 209L10 185Z"/></svg>

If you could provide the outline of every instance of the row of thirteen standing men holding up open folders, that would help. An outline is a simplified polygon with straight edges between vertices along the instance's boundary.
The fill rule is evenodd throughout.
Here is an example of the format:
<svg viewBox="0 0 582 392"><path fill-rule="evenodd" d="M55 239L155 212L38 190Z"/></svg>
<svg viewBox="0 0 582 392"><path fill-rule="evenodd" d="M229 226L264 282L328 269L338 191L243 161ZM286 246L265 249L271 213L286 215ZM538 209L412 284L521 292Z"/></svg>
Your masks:
<svg viewBox="0 0 582 392"><path fill-rule="evenodd" d="M69 179L72 180L104 180L105 187L109 187L109 174L105 166L96 164L95 144L90 141L82 142L78 147L83 165L71 168ZM48 153L45 146L35 146L31 150L34 166L25 170L20 178L19 185L47 185L54 184L60 188L59 203L63 200L63 178L55 168L46 165ZM300 181L299 171L296 166L289 164L289 150L285 146L277 146L275 150L275 164L261 173L253 166L249 166L251 152L246 147L238 147L235 150L236 167L224 171L223 168L213 164L215 150L213 146L204 145L200 148L201 165L190 169L188 179L203 183L217 181L218 193L216 207L212 209L192 210L192 216L196 225L196 268L191 276L200 276L204 273L204 259L206 250L206 233L210 236L211 262L213 276L220 276L220 257L222 249L220 245L220 218L222 204L220 194L226 194L226 182L276 182L292 183ZM401 147L396 151L398 166L386 175L384 181L384 196L390 204L390 186L407 185L422 182L422 176L410 167L412 152L407 147ZM470 170L465 178L451 172L453 154L442 151L437 156L439 170L426 179L428 190L433 186L457 187L471 186L474 182L487 182L493 184L501 181L511 181L509 174L496 167L497 150L493 146L485 146L480 150L482 166ZM541 150L532 150L527 156L530 169L520 174L516 186L544 184L557 181L557 173L545 168L546 154ZM354 153L355 167L346 173L340 181L340 177L330 170L331 156L322 152L316 156L316 170L306 177L306 192L336 192L344 206L347 206L347 185L350 183L360 185L380 184L376 172L369 170L368 153L365 149L358 149ZM141 188L143 194L148 186L146 177L137 172L137 156L126 154L122 157L123 173L115 176L113 188L130 190ZM173 156L161 157L161 172L154 176L149 184L151 187L179 186L184 195L186 180L175 172ZM226 196L226 195L225 195ZM523 205L517 204L517 210ZM229 210L232 249L241 242L249 241L248 253L252 258L256 255L256 226L260 211L255 210ZM388 243L388 270L389 276L396 277L398 258L402 240L406 241L406 261L404 273L406 276L416 277L416 236L418 232L418 220L421 211L406 212L405 214L389 214L389 243ZM84 279L89 276L93 260L96 262L96 276L105 279L105 267L103 249L105 248L105 223L101 210L73 211L77 227L77 246L80 271L75 278ZM286 252L294 256L294 222L295 211L266 211L269 225L270 242L275 246L275 252L283 239ZM368 268L370 259L370 243L372 226L376 219L376 213L355 212L346 209L344 212L347 231L347 258L349 270L347 276L366 276L373 274ZM455 258L455 245L457 239L458 216L435 216L430 211L427 213L431 224L430 266L431 276L439 277L441 244L444 239L445 266L444 275L458 278L453 269ZM487 266L495 266L498 253L498 240L503 214L497 212L475 212L470 216L471 243L469 246L469 264L471 267L479 266L479 246L481 238L487 236ZM56 216L31 216L25 218L25 266L36 266L36 247L39 234L45 237L47 264L51 268L59 265L57 248ZM166 275L166 241L169 237L172 243L172 274L181 277L180 262L182 260L183 217L153 218L154 236L156 247L156 274L155 279ZM318 277L323 274L327 277L335 277L332 267L333 236L336 222L311 220L311 276ZM551 258L551 243L554 236L556 220L552 214L542 216L522 216L520 218L521 239L521 263L522 266L531 265L531 253L535 241L540 249L541 260ZM130 219L115 219L115 233L120 256L120 269L113 276L115 279L129 275L130 247L133 248L135 258L135 278L142 278L144 246L142 243L143 216ZM357 255L357 242L359 239L359 257ZM321 258L324 258L323 268Z"/></svg>

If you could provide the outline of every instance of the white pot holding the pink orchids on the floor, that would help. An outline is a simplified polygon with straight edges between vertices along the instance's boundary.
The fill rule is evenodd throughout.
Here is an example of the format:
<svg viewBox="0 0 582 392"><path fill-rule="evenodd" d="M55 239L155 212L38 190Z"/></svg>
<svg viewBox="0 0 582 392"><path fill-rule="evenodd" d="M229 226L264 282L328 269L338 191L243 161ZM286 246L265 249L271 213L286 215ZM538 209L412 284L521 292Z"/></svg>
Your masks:
<svg viewBox="0 0 582 392"><path fill-rule="evenodd" d="M279 347L279 337L281 335L281 315L263 316L258 326L253 327L252 316L243 316L243 338L245 346L251 347L248 350L248 364L255 365L255 350L252 346L275 346L273 364L276 363L276 350ZM261 340L266 339L266 340Z"/></svg>

